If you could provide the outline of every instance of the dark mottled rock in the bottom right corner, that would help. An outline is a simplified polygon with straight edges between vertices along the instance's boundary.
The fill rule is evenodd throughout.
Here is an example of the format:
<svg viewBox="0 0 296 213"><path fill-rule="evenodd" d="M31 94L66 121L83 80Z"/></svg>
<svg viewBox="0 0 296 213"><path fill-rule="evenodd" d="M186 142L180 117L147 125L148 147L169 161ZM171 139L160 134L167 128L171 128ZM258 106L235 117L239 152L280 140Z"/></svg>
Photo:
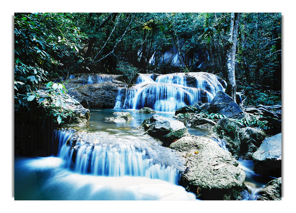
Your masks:
<svg viewBox="0 0 296 213"><path fill-rule="evenodd" d="M259 201L279 201L282 199L282 177L269 181L266 186L258 192Z"/></svg>

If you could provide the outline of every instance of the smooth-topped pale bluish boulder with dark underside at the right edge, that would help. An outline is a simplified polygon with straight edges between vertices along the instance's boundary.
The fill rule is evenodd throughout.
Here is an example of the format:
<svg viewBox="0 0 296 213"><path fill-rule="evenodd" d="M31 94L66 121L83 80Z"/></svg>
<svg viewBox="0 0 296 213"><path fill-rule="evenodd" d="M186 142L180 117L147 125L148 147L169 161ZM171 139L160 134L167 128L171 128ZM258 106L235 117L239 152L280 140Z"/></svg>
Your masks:
<svg viewBox="0 0 296 213"><path fill-rule="evenodd" d="M253 154L253 161L257 174L282 176L282 133L266 138Z"/></svg>

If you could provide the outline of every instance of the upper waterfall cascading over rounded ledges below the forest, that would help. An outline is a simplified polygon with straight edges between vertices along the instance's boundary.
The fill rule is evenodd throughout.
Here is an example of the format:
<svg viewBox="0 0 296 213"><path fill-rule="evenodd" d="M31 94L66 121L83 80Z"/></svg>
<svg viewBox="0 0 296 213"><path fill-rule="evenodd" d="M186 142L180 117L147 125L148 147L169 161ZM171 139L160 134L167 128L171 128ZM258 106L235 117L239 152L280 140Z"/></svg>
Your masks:
<svg viewBox="0 0 296 213"><path fill-rule="evenodd" d="M188 77L189 76L189 77ZM137 85L130 89L118 89L114 109L140 109L149 107L156 111L173 112L195 101L211 102L218 91L224 91L217 76L210 73L182 73L158 75L141 74ZM195 79L191 87L187 78ZM125 94L124 94L125 93Z"/></svg>

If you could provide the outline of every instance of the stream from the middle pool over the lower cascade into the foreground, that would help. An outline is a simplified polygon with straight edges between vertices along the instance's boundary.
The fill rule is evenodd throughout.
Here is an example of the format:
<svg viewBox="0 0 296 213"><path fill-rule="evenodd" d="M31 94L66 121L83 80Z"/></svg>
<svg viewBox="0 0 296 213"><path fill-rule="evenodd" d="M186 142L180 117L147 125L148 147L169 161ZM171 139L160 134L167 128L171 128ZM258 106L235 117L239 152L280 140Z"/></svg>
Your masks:
<svg viewBox="0 0 296 213"><path fill-rule="evenodd" d="M134 119L126 123L105 121L115 117L116 111L128 111ZM157 114L174 116L172 112ZM57 155L15 159L15 200L196 200L193 193L178 185L184 164L179 154L136 129L150 116L137 110L92 109L88 127L56 130L53 142L59 141ZM92 134L81 134L84 141L79 141L73 164L74 149L66 143L74 133L85 130ZM206 130L188 130L209 136ZM99 146L89 149L84 146L87 141L96 141ZM250 190L245 200L255 200L266 184L254 173L252 163L239 160Z"/></svg>

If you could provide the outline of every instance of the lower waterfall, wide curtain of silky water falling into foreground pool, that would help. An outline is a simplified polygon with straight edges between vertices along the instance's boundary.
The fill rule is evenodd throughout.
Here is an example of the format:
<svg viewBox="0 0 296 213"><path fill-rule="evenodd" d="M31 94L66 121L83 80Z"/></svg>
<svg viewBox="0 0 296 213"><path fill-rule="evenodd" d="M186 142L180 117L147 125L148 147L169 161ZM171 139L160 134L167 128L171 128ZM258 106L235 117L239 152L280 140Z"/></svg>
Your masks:
<svg viewBox="0 0 296 213"><path fill-rule="evenodd" d="M76 173L112 177L141 176L172 184L179 182L179 170L174 165L160 164L153 149L131 143L128 139L113 138L106 132L79 135L73 129L56 130L54 134L59 141L58 157L66 162L64 166L67 169Z"/></svg>

